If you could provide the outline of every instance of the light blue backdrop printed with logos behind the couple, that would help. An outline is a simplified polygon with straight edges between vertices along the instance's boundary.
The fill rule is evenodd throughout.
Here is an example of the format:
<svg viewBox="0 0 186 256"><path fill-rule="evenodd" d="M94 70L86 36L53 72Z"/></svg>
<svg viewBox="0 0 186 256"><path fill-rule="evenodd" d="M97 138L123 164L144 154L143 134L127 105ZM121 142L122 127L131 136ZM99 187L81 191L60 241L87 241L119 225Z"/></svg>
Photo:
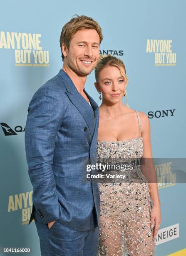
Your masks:
<svg viewBox="0 0 186 256"><path fill-rule="evenodd" d="M186 156L184 0L4 1L0 8L0 248L40 255L27 172L25 123L35 91L62 68L60 33L74 14L100 24L100 54L126 65L129 106L149 116L162 222L156 256L186 255L186 186L171 159ZM86 90L100 105L94 72ZM182 170L184 171L184 170ZM12 253L10 253L12 254Z"/></svg>

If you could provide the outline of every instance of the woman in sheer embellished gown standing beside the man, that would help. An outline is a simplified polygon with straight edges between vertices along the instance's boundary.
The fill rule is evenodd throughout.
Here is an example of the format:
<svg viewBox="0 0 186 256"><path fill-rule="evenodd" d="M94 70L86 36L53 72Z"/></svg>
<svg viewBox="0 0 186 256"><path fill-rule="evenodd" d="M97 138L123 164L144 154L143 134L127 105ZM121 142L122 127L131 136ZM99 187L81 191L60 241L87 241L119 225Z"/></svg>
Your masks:
<svg viewBox="0 0 186 256"><path fill-rule="evenodd" d="M122 103L128 78L121 59L111 54L101 55L95 77L94 85L99 98L103 98L99 108L98 161L111 158L149 159L141 169L134 170L136 183L99 183L101 215L98 255L154 255L161 212L152 162L149 119L145 113Z"/></svg>

